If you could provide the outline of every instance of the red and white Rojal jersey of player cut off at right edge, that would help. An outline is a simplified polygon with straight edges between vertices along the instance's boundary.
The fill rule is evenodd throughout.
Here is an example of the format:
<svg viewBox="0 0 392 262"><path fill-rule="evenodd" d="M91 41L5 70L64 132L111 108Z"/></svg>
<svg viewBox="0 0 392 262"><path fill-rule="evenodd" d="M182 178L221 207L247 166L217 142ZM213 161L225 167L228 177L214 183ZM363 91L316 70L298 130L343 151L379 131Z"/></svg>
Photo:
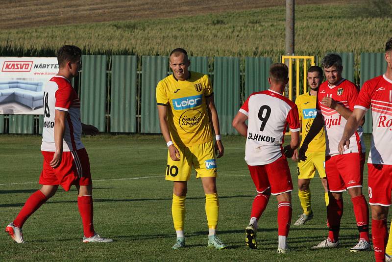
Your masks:
<svg viewBox="0 0 392 262"><path fill-rule="evenodd" d="M370 106L373 137L368 163L392 165L392 80L385 75L364 83L354 108L367 111Z"/></svg>

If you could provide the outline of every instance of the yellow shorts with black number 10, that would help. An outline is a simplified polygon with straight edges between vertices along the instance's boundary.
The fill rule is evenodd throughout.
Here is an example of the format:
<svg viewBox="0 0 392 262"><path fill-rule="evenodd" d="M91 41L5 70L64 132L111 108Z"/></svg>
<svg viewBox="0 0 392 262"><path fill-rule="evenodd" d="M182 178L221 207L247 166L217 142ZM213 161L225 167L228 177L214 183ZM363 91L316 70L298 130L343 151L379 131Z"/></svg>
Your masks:
<svg viewBox="0 0 392 262"><path fill-rule="evenodd" d="M188 181L191 177L192 166L195 167L196 178L218 176L213 141L178 148L178 151L180 152L180 160L173 161L168 150L166 180Z"/></svg>

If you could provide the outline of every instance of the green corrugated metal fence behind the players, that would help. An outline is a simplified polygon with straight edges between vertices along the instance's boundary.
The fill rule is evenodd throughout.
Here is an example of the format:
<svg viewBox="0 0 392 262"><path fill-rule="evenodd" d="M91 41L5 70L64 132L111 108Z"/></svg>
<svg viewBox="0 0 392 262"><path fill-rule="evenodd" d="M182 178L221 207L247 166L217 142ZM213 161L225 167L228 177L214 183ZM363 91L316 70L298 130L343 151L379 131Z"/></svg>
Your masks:
<svg viewBox="0 0 392 262"><path fill-rule="evenodd" d="M353 53L339 54L343 77L360 78L361 85L385 72L384 53L362 53L360 70ZM208 74L213 81L221 133L235 134L231 121L247 96L268 88L272 59L214 57L214 63L209 63L208 57L191 56L190 60L191 71ZM160 133L155 88L171 74L167 56L84 55L82 63L81 75L73 83L79 90L83 123L95 125L99 131ZM0 115L0 133L42 133L42 126L43 116ZM372 131L370 112L364 131Z"/></svg>

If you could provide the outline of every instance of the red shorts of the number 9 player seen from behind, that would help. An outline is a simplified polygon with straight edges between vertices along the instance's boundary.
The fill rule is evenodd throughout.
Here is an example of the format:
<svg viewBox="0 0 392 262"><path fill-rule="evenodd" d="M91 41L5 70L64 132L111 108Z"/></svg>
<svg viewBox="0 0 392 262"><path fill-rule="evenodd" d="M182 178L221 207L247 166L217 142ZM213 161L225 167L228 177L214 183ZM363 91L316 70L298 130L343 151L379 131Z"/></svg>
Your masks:
<svg viewBox="0 0 392 262"><path fill-rule="evenodd" d="M248 165L250 176L258 193L271 188L272 195L293 191L289 164L282 156L266 165Z"/></svg>

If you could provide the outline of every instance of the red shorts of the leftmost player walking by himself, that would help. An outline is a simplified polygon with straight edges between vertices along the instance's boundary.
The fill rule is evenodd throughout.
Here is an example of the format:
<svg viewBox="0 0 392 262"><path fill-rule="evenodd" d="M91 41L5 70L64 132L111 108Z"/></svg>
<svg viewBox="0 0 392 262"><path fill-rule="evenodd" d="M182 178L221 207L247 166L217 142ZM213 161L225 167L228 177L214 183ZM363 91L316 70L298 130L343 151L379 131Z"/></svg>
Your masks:
<svg viewBox="0 0 392 262"><path fill-rule="evenodd" d="M40 184L61 185L65 191L71 185L89 185L91 182L90 161L86 149L63 152L61 163L52 168L49 163L54 152L41 151L44 156L44 166L40 176Z"/></svg>

